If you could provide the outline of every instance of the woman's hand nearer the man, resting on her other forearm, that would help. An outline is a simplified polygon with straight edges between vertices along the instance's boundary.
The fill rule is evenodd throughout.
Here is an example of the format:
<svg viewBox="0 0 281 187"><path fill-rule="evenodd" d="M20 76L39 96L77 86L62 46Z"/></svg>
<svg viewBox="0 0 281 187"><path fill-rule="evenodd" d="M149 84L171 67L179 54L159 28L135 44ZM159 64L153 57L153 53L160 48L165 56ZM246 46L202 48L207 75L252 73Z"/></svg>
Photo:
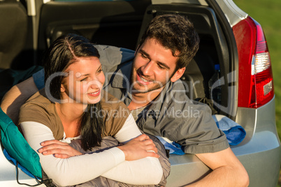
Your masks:
<svg viewBox="0 0 281 187"><path fill-rule="evenodd" d="M159 158L155 144L145 134L135 137L118 148L124 152L125 160L138 160L147 156Z"/></svg>

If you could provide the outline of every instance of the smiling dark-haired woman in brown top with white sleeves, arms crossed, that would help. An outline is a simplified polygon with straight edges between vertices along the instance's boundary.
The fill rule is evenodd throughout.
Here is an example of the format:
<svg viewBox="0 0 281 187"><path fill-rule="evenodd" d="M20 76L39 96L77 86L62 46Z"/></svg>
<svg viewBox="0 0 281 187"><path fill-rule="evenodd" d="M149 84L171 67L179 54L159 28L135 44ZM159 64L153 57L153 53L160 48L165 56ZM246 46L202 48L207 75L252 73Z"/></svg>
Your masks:
<svg viewBox="0 0 281 187"><path fill-rule="evenodd" d="M45 89L21 107L19 123L27 142L38 151L48 177L59 186L81 184L99 176L127 184L158 184L163 171L154 143L141 135L122 102L102 94L105 77L96 48L82 36L69 34L55 40L43 63ZM80 139L82 149L89 153L106 136L123 144L82 154L63 143ZM67 147L67 154L63 149L52 149L52 141L45 140ZM62 158L50 150L62 151L57 156Z"/></svg>

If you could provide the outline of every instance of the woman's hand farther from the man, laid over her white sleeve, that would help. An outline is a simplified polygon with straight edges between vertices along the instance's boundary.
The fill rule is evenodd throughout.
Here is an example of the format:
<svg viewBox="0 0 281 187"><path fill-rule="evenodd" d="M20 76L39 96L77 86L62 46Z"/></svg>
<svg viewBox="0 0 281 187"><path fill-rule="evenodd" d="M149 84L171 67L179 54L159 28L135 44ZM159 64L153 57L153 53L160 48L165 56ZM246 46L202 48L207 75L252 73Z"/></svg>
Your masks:
<svg viewBox="0 0 281 187"><path fill-rule="evenodd" d="M38 150L40 154L53 154L57 158L69 158L71 156L82 155L79 151L71 147L69 144L60 142L59 140L47 140L41 143L43 146Z"/></svg>

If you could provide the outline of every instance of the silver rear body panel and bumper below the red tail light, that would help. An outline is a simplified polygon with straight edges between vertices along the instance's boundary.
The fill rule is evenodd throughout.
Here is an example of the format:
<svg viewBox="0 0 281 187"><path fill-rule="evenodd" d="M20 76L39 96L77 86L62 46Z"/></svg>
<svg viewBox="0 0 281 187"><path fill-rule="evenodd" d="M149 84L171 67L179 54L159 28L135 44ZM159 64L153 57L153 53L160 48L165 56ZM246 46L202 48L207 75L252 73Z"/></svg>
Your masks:
<svg viewBox="0 0 281 187"><path fill-rule="evenodd" d="M237 120L245 128L247 135L243 142L231 146L231 149L247 170L250 186L276 186L281 147L275 126L275 98L257 110L238 108ZM194 179L201 179L210 172L206 165L191 154L171 155L169 160L171 174L167 186L182 186Z"/></svg>

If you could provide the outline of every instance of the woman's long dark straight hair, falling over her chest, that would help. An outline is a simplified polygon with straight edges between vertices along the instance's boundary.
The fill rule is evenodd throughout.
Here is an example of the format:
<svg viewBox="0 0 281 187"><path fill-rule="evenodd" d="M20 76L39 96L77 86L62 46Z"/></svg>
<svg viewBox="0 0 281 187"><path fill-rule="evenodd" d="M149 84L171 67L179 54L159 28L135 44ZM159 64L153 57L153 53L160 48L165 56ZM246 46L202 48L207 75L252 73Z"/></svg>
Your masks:
<svg viewBox="0 0 281 187"><path fill-rule="evenodd" d="M57 38L52 45L45 51L43 64L45 68L45 90L50 91L53 98L62 99L61 84L67 76L66 69L80 57L98 57L99 52L92 43L73 33ZM54 73L59 73L50 79L50 83L46 84L48 78ZM52 98L49 98L53 100ZM101 110L101 104L88 104L87 109L80 117L80 135L81 147L85 151L91 150L92 147L100 146L101 138L104 132L103 118L99 115L91 115L89 112L92 108Z"/></svg>

